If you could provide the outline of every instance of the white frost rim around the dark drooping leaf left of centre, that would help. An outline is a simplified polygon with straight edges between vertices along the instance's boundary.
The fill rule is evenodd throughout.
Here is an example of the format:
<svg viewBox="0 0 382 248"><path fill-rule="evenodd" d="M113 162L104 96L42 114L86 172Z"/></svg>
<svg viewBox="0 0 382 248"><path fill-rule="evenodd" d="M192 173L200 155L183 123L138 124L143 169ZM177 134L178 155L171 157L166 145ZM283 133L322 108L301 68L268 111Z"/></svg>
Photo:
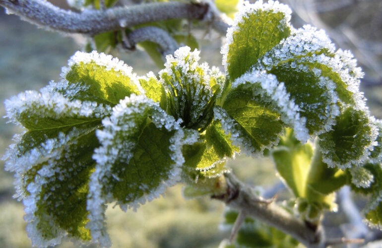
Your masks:
<svg viewBox="0 0 382 248"><path fill-rule="evenodd" d="M170 156L173 164L171 170L167 173L167 180L162 181L156 188L151 188L149 194L144 194L140 198L133 199L128 203L124 200L115 199L112 195L112 189L109 188L109 181L117 180L118 175L112 173L114 163L118 159L123 159L126 163L132 158L132 150L136 145L133 138L134 133L140 130L142 119L150 120L157 128L166 128L168 131L174 131L174 135L170 138ZM185 138L184 131L180 127L181 120L176 121L173 117L168 116L164 110L159 107L158 103L147 99L143 95L136 96L132 94L121 100L118 105L113 108L110 118L103 120L104 129L97 130L97 137L101 142L101 147L95 150L93 159L97 161L95 172L90 176L88 210L90 212L88 218L91 220L87 227L90 229L92 237L100 245L108 246L110 239L106 232L105 208L107 203L117 200L117 204L121 209L133 208L146 201L151 201L164 193L166 187L173 186L181 179L181 166L184 163L182 147L185 143L192 142L195 137ZM140 185L145 188L145 185ZM128 200L128 199L127 199Z"/></svg>

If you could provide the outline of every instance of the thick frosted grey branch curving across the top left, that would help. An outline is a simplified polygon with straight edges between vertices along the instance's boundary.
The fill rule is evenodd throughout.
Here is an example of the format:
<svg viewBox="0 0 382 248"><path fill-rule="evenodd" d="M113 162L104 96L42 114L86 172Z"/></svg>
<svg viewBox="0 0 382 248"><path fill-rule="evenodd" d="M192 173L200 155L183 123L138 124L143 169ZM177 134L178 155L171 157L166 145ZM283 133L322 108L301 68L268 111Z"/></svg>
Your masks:
<svg viewBox="0 0 382 248"><path fill-rule="evenodd" d="M0 0L8 13L19 15L34 24L67 33L96 35L134 25L169 19L203 19L209 5L205 3L158 2L84 10L80 13L61 9L43 0Z"/></svg>

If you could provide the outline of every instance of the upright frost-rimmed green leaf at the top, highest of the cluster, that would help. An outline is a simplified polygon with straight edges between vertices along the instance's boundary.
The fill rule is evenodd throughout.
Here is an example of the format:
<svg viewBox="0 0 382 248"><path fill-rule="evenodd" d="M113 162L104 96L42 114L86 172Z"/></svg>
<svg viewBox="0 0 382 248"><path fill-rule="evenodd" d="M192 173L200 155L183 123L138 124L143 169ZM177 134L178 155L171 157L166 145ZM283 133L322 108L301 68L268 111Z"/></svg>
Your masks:
<svg viewBox="0 0 382 248"><path fill-rule="evenodd" d="M239 6L234 25L228 29L222 48L226 73L233 81L257 62L273 46L290 34L291 10L278 1Z"/></svg>

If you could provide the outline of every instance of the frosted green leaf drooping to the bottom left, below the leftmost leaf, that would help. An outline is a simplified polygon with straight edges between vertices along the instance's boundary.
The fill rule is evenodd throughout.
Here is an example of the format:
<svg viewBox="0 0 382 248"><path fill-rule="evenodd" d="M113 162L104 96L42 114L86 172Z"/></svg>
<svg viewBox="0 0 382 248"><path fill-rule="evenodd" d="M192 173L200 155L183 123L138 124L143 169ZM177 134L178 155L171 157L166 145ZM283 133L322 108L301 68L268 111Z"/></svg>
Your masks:
<svg viewBox="0 0 382 248"><path fill-rule="evenodd" d="M56 245L66 235L91 240L85 227L87 183L95 165L92 155L99 145L95 136L99 127L100 123L82 125L47 140L42 145L47 149L45 161L20 177L26 191L26 229L34 246Z"/></svg>

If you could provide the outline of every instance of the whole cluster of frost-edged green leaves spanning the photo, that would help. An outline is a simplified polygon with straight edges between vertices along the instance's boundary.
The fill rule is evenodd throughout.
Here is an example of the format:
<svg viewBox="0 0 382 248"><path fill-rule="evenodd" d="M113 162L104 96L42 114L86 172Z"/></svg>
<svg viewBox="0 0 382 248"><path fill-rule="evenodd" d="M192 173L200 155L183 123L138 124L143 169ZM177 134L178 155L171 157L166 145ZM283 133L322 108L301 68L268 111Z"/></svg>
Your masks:
<svg viewBox="0 0 382 248"><path fill-rule="evenodd" d="M68 236L108 247L108 203L135 209L178 182L188 197L222 192L224 162L239 152L273 158L305 221L318 223L350 184L373 195L365 217L381 227L382 124L359 92L362 72L290 15L277 1L240 6L224 73L190 47L167 56L158 76L77 52L61 81L7 100L25 132L4 159L33 244Z"/></svg>

